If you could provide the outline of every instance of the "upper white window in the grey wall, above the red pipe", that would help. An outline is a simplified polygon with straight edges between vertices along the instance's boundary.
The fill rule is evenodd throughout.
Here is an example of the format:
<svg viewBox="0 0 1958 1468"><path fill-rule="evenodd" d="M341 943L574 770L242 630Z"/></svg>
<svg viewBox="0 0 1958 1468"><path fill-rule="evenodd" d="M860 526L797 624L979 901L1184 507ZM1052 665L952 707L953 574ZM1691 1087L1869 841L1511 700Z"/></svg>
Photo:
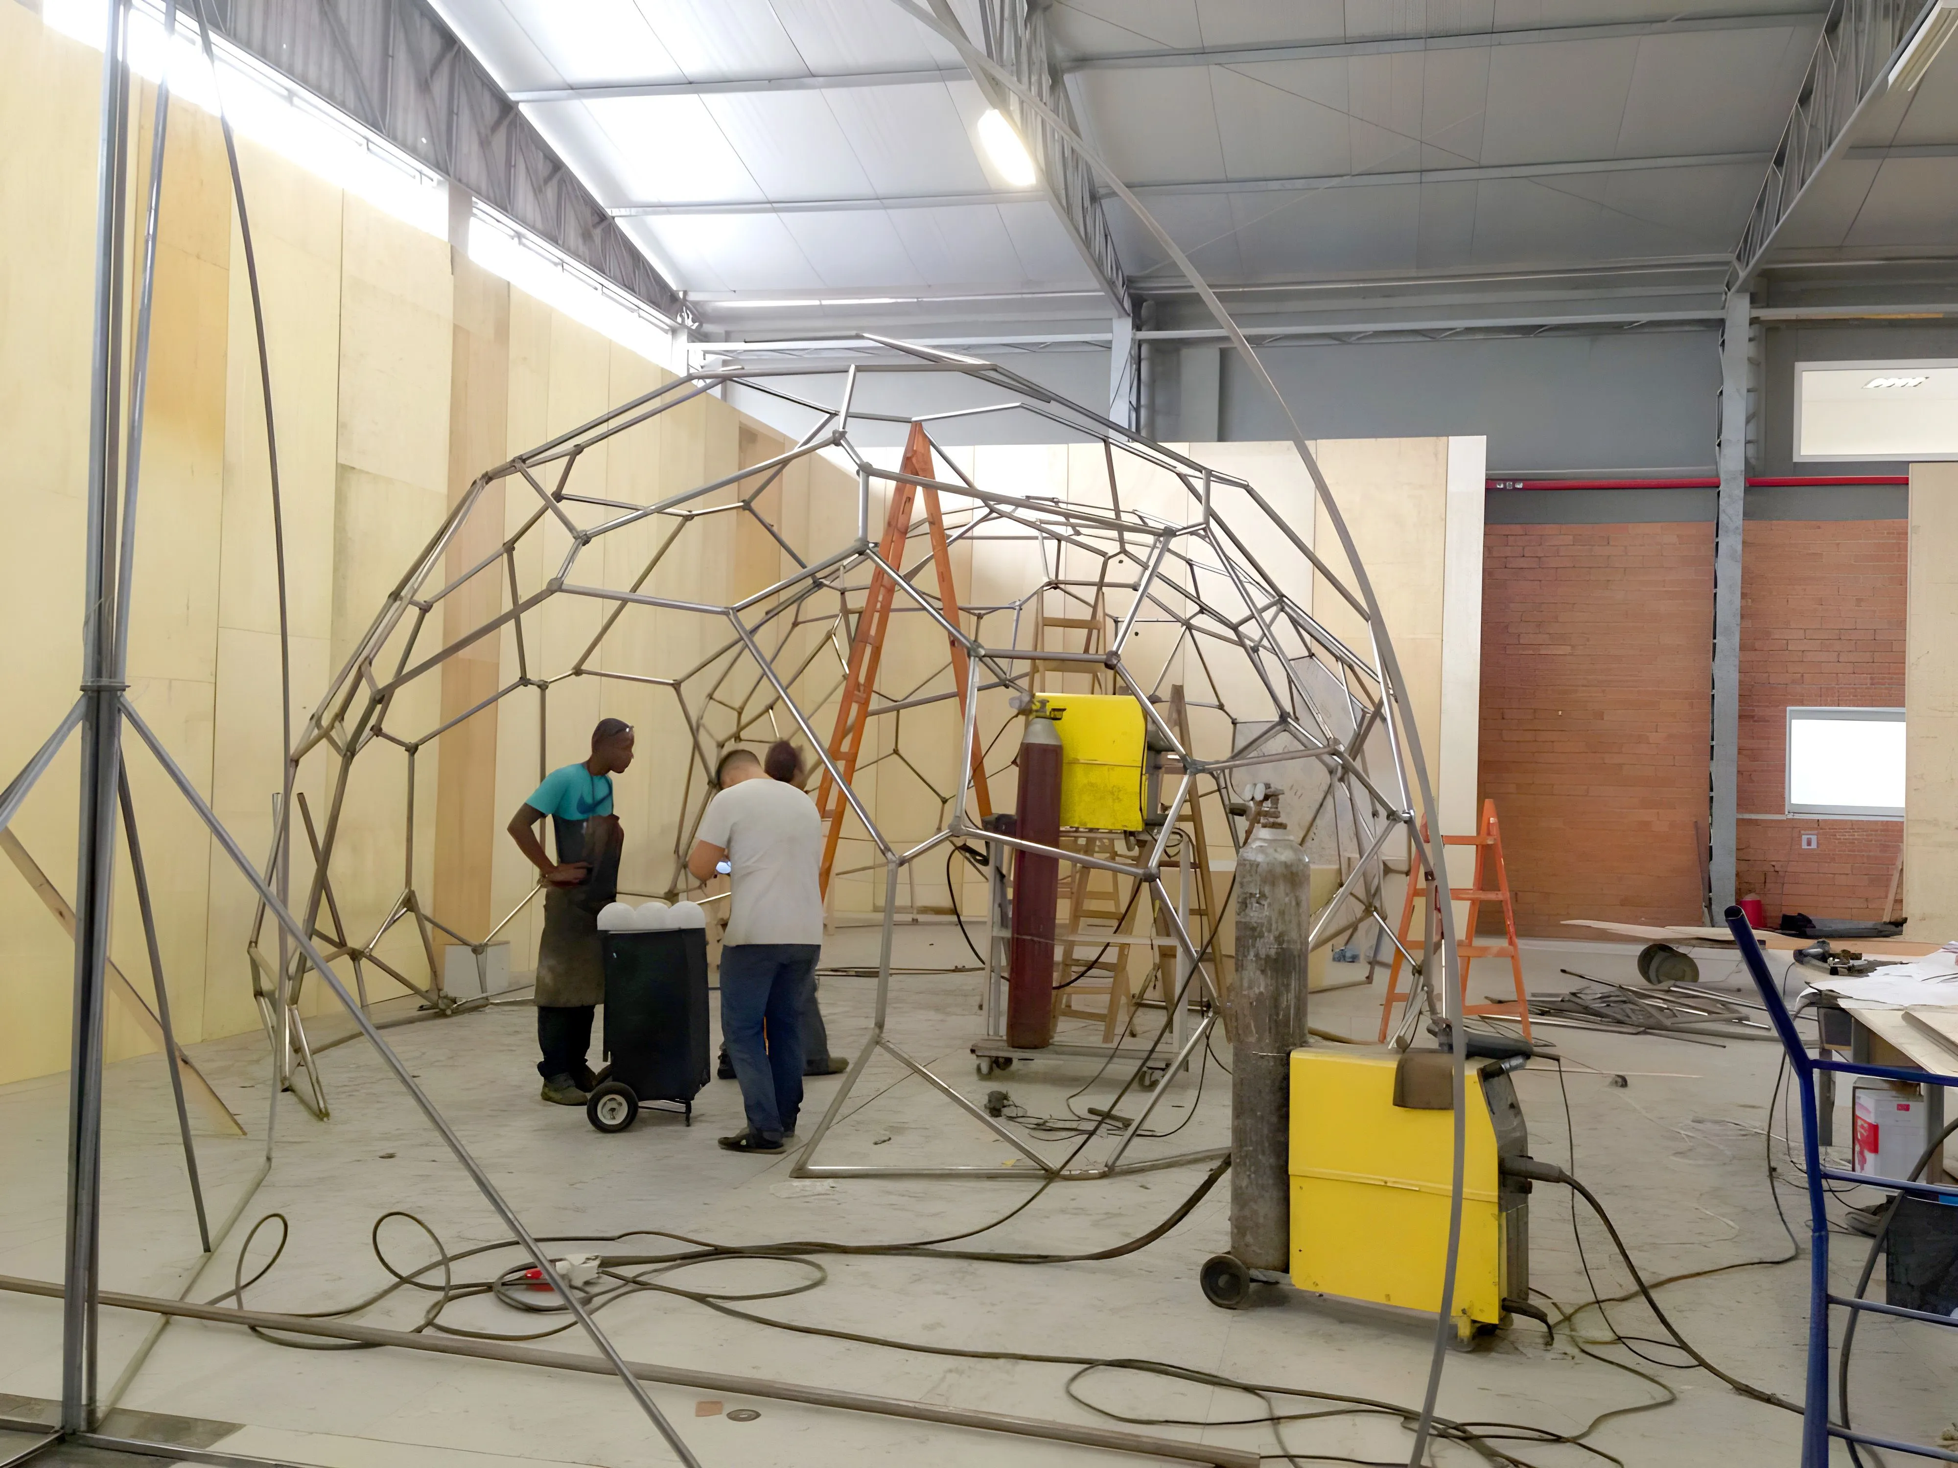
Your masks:
<svg viewBox="0 0 1958 1468"><path fill-rule="evenodd" d="M1795 458L1958 458L1958 362L1795 362Z"/></svg>

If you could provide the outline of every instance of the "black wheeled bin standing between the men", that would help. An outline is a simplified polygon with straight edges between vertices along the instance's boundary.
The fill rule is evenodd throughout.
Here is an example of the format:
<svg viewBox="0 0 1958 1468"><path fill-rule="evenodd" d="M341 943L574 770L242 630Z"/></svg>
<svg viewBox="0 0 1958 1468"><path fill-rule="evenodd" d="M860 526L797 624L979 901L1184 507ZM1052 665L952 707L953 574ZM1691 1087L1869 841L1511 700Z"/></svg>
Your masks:
<svg viewBox="0 0 1958 1468"><path fill-rule="evenodd" d="M605 945L605 1053L585 1118L625 1131L646 1102L679 1106L693 1125L693 1096L709 1080L707 932L599 934Z"/></svg>

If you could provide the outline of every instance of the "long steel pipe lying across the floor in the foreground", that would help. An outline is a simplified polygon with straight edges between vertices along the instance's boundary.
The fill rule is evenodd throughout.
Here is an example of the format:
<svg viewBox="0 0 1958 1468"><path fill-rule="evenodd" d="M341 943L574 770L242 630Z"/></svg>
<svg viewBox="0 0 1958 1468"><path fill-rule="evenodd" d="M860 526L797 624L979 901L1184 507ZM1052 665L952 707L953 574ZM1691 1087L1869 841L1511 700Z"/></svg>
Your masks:
<svg viewBox="0 0 1958 1468"><path fill-rule="evenodd" d="M41 1296L43 1300L61 1298L59 1284L23 1280L14 1274L0 1274L0 1290ZM458 1341L443 1335L390 1331L378 1325L307 1319L303 1315L280 1315L268 1309L200 1306L192 1300L161 1300L143 1294L121 1294L117 1290L102 1290L100 1304L110 1306L112 1309L143 1309L153 1315L182 1315L186 1319L213 1321L217 1325L247 1325L270 1331L290 1331L294 1335L319 1335L329 1341L358 1341L362 1345L399 1347L401 1351L427 1351L441 1356L476 1356L478 1360L505 1360L517 1366L546 1366L550 1370L587 1372L591 1376L615 1374L611 1362L605 1358L578 1356L570 1351L540 1351L536 1347L503 1345L495 1341ZM1212 1464L1212 1468L1259 1468L1257 1452L1222 1448L1210 1443L1147 1437L1143 1433L1124 1433L1112 1427L1053 1423L1042 1421L1040 1417L1010 1417L999 1411L940 1407L930 1401L903 1401L899 1398L877 1398L863 1392L842 1392L828 1386L799 1386L795 1382L775 1382L760 1376L728 1376L726 1372L697 1372L683 1366L656 1366L644 1360L630 1360L627 1366L632 1370L636 1380L658 1382L662 1386L685 1386L701 1392L721 1392L726 1396L768 1398L771 1401L801 1401L811 1407L863 1411L877 1417L905 1417L920 1423L938 1423L942 1427L971 1427L981 1433L1036 1437L1048 1443L1075 1443L1085 1448L1106 1448L1110 1452L1128 1452L1142 1458Z"/></svg>

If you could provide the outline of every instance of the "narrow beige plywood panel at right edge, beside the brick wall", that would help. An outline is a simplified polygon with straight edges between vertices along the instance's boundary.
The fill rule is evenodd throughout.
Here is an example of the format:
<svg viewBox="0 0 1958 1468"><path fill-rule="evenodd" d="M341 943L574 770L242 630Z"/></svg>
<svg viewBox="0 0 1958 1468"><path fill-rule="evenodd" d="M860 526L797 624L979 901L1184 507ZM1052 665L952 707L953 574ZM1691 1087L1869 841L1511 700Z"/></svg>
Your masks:
<svg viewBox="0 0 1958 1468"><path fill-rule="evenodd" d="M1907 936L1958 938L1958 464L1911 466L1905 622Z"/></svg>

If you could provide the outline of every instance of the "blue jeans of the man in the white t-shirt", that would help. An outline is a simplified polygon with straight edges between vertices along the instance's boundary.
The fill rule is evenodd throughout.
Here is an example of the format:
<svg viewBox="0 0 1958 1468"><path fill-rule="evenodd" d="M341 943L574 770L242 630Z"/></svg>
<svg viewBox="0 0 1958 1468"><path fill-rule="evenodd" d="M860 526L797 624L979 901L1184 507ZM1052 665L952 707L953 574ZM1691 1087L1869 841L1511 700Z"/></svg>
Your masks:
<svg viewBox="0 0 1958 1468"><path fill-rule="evenodd" d="M721 1033L740 1080L748 1131L781 1141L803 1108L803 1006L820 943L738 943L721 949ZM762 1026L768 1024L764 1043Z"/></svg>

